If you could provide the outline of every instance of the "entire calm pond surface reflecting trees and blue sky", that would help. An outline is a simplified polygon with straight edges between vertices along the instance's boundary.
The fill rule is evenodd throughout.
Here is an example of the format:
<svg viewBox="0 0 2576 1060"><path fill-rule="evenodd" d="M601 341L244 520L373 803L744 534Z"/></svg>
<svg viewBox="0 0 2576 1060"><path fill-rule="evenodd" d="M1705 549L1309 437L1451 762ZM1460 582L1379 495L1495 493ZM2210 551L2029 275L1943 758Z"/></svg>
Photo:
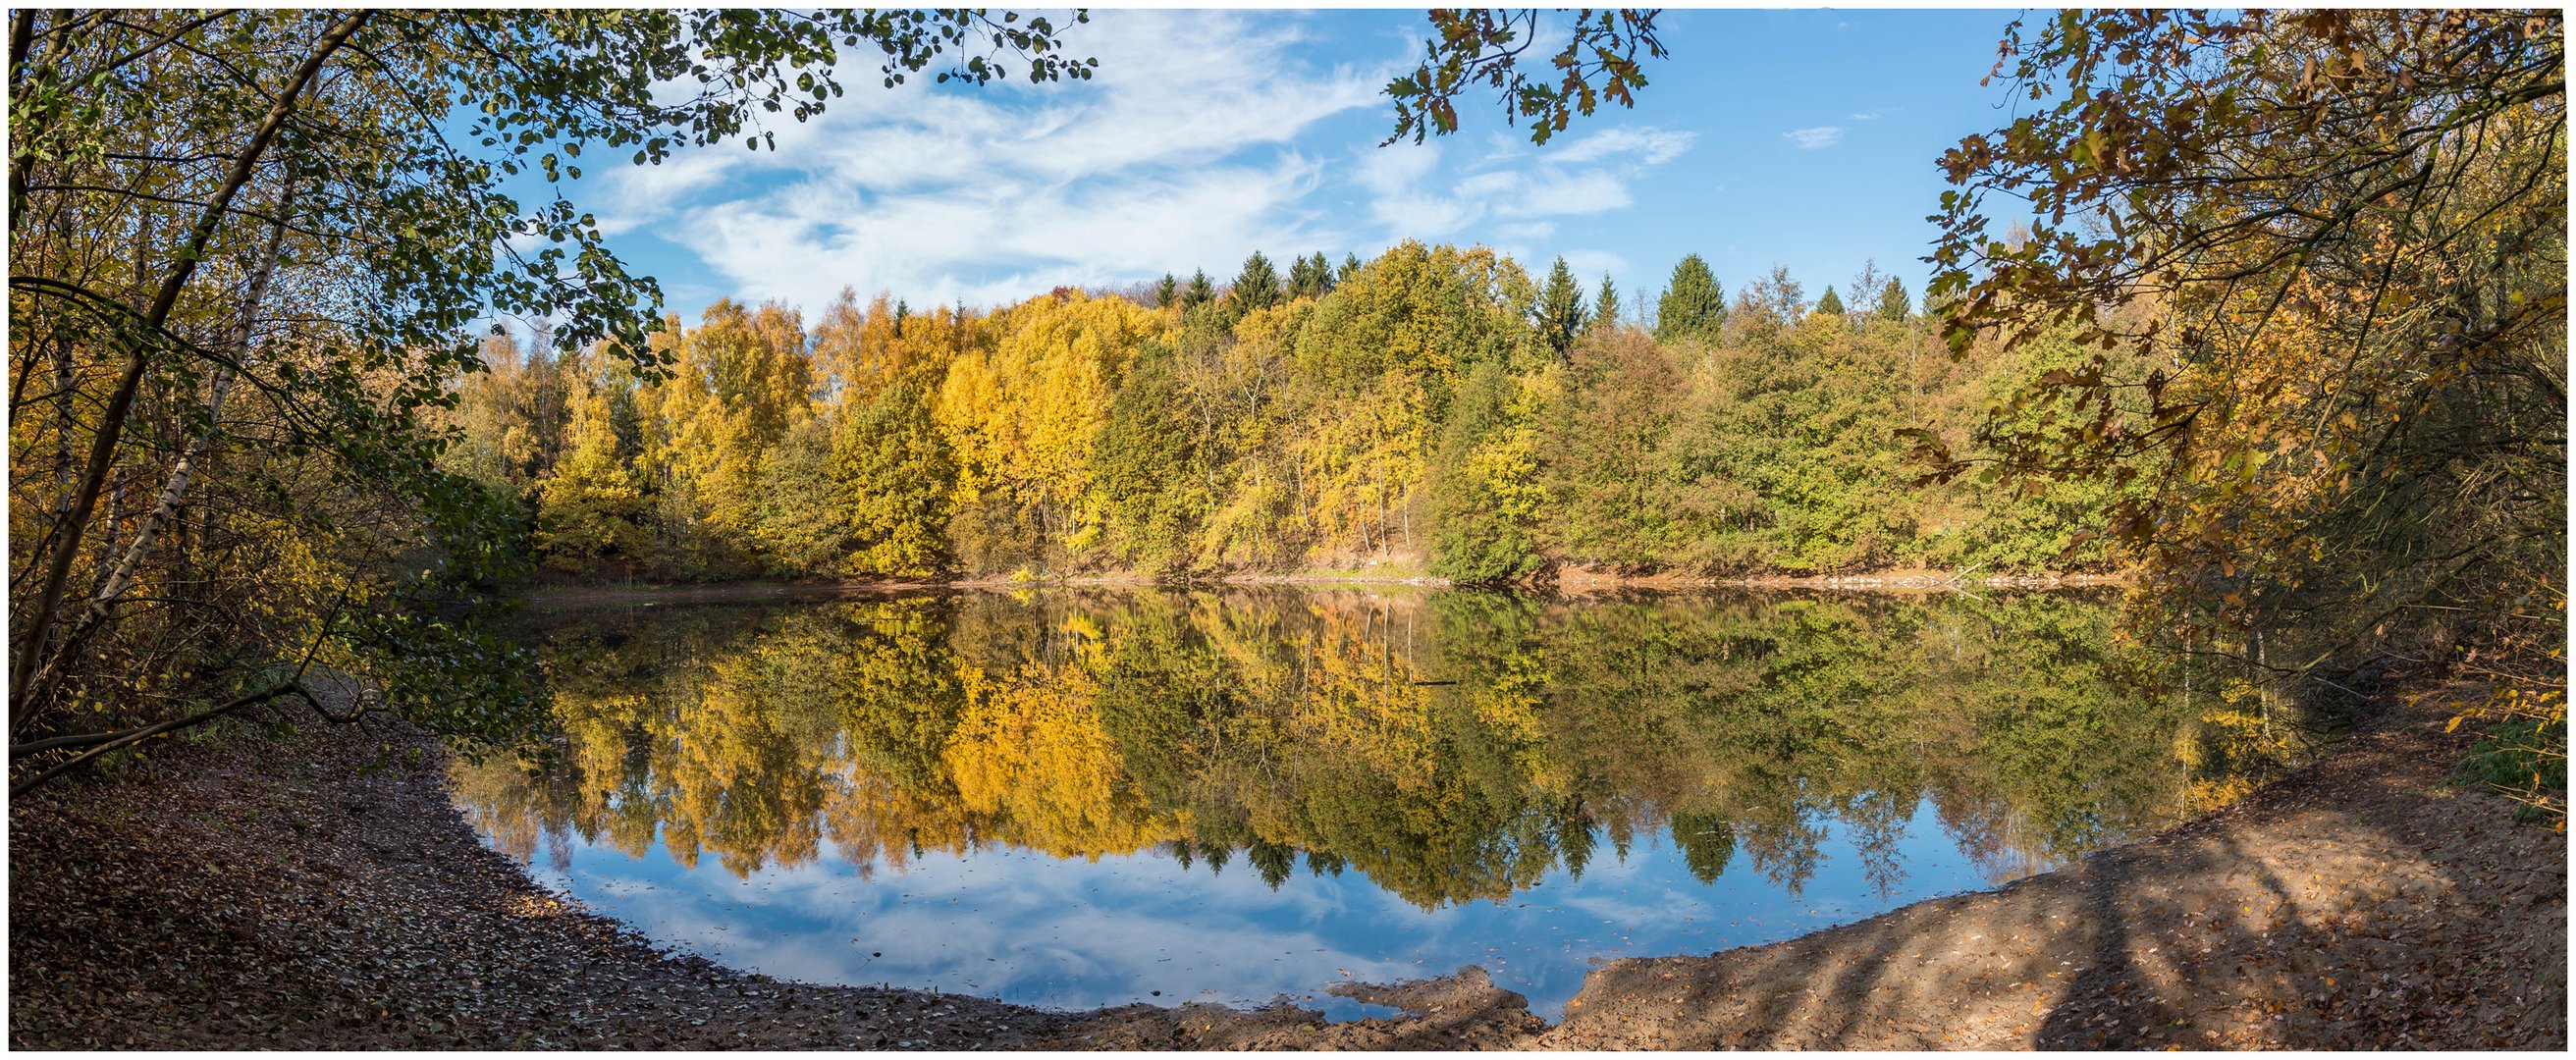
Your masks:
<svg viewBox="0 0 2576 1060"><path fill-rule="evenodd" d="M2172 821L2097 597L933 594L538 617L559 756L484 836L806 983L1262 1003L1481 965L1556 1019Z"/></svg>

